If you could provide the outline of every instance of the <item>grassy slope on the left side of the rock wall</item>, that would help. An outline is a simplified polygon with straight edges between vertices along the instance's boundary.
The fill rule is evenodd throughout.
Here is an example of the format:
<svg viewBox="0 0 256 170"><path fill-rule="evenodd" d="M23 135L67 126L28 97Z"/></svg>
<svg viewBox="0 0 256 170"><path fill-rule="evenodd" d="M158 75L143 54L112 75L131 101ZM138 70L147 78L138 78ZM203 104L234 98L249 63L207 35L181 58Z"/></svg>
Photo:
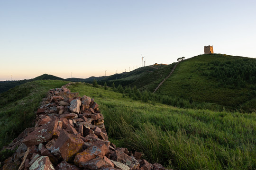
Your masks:
<svg viewBox="0 0 256 170"><path fill-rule="evenodd" d="M67 84L61 80L32 81L0 94L0 150L25 128L32 127L34 111L49 89Z"/></svg>

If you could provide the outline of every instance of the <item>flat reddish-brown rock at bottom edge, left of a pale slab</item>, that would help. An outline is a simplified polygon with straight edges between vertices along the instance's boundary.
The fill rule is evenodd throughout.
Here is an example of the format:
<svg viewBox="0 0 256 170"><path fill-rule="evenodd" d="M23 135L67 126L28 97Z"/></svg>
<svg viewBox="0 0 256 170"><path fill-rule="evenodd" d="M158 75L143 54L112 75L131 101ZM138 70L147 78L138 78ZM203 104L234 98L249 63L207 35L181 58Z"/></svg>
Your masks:
<svg viewBox="0 0 256 170"><path fill-rule="evenodd" d="M91 161L80 162L79 166L90 170L98 170L100 168L111 167L111 164L99 157Z"/></svg>

